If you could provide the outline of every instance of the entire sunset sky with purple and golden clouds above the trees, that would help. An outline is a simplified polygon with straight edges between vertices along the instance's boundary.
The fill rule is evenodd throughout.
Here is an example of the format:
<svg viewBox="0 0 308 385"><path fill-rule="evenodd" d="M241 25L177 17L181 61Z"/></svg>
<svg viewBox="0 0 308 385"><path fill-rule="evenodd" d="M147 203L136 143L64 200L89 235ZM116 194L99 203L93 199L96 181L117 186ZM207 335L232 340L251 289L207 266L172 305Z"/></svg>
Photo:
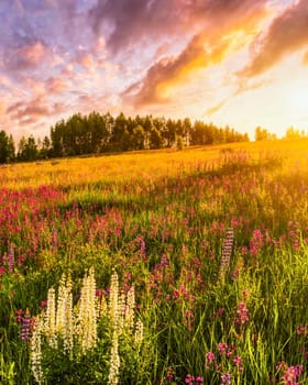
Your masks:
<svg viewBox="0 0 308 385"><path fill-rule="evenodd" d="M0 130L75 112L308 130L308 0L0 0Z"/></svg>

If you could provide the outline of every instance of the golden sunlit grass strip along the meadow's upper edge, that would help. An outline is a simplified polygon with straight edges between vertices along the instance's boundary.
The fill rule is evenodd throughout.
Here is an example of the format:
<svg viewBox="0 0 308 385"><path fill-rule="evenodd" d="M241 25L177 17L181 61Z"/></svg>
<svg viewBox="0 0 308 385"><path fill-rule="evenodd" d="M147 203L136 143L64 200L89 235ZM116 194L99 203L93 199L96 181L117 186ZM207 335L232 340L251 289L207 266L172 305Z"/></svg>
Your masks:
<svg viewBox="0 0 308 385"><path fill-rule="evenodd" d="M155 179L188 170L196 164L215 166L223 156L246 153L253 160L283 157L294 164L308 163L308 139L231 143L187 147L184 151L161 150L120 155L48 160L6 165L0 168L1 187L23 189L42 185L82 186L96 182L124 183L140 178Z"/></svg>

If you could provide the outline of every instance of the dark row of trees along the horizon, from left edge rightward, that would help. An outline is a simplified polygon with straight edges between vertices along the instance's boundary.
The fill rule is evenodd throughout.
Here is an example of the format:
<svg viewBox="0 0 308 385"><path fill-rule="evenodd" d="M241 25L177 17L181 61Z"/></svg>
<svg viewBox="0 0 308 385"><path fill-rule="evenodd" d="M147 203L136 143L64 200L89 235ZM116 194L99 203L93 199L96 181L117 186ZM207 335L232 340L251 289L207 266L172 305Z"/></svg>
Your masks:
<svg viewBox="0 0 308 385"><path fill-rule="evenodd" d="M218 128L212 123L186 118L173 120L152 116L134 118L122 112L75 113L51 128L50 136L35 140L22 136L15 147L12 135L0 131L0 163L28 162L52 157L79 156L138 150L206 145L249 141L246 133Z"/></svg>

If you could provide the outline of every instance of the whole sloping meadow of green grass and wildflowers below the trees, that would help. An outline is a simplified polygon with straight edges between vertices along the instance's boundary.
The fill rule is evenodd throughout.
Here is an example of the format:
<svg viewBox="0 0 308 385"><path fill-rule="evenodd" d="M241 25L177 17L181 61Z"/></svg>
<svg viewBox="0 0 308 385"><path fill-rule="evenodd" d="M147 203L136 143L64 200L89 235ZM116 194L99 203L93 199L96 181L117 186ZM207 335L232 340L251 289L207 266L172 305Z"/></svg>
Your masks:
<svg viewBox="0 0 308 385"><path fill-rule="evenodd" d="M1 384L307 384L308 140L0 168Z"/></svg>

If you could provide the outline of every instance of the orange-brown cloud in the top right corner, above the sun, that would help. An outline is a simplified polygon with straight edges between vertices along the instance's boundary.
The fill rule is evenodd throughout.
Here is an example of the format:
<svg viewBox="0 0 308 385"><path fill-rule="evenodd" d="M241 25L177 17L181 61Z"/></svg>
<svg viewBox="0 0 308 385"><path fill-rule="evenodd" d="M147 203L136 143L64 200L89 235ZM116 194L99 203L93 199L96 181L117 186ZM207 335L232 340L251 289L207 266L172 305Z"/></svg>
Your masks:
<svg viewBox="0 0 308 385"><path fill-rule="evenodd" d="M256 53L240 76L257 76L275 66L287 54L308 45L308 1L300 0L278 15L253 48Z"/></svg>

